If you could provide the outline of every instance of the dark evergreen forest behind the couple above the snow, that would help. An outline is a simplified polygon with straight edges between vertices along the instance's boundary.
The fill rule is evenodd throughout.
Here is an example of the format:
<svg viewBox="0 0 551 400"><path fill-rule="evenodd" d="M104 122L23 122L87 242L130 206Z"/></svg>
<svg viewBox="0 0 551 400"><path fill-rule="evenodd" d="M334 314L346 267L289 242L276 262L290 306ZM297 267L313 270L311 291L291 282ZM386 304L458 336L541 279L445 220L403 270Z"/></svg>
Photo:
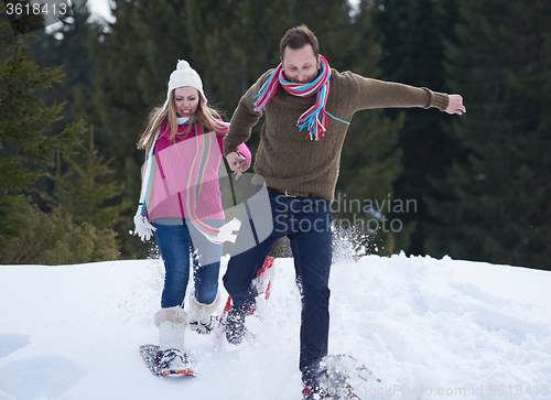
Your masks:
<svg viewBox="0 0 551 400"><path fill-rule="evenodd" d="M335 221L354 224L336 234L357 252L551 270L551 1L110 4L114 22L84 6L18 34L0 3L0 263L151 257L154 240L130 235L137 142L177 60L229 121L304 23L333 68L461 94L467 109L357 112L333 204Z"/></svg>

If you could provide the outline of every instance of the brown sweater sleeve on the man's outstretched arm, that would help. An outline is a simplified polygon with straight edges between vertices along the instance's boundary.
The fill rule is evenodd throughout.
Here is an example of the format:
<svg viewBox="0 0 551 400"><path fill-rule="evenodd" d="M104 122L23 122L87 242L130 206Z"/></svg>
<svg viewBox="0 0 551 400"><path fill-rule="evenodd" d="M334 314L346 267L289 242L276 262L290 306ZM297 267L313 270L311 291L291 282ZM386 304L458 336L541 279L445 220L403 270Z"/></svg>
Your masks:
<svg viewBox="0 0 551 400"><path fill-rule="evenodd" d="M350 90L356 96L359 109L435 107L441 111L447 108L449 98L444 93L432 91L425 87L414 87L393 82L365 78L354 73L343 73Z"/></svg>

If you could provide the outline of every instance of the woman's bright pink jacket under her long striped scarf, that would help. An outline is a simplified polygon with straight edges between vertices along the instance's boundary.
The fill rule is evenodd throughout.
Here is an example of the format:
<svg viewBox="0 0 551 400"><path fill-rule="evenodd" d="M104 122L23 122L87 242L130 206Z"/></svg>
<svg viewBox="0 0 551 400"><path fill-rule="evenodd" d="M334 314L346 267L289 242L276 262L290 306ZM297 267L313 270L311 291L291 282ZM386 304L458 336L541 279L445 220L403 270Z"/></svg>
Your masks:
<svg viewBox="0 0 551 400"><path fill-rule="evenodd" d="M187 126L180 126L179 132L182 134L177 134L175 141L171 142L171 130L168 122L165 121L161 126L154 149L156 169L152 173L154 181L151 202L148 204L149 220L163 217L188 218L185 212L185 201L187 195L195 193L194 188L191 187L190 172L197 154L197 144L195 127L192 127L190 133L184 137L186 129ZM206 155L206 167L198 188L195 213L199 219L224 219L218 184L224 137L216 136L214 132L204 133L204 136L212 136L213 145L209 154ZM250 163L251 154L247 145L244 143L238 147L238 150ZM231 176L222 179L231 179Z"/></svg>

